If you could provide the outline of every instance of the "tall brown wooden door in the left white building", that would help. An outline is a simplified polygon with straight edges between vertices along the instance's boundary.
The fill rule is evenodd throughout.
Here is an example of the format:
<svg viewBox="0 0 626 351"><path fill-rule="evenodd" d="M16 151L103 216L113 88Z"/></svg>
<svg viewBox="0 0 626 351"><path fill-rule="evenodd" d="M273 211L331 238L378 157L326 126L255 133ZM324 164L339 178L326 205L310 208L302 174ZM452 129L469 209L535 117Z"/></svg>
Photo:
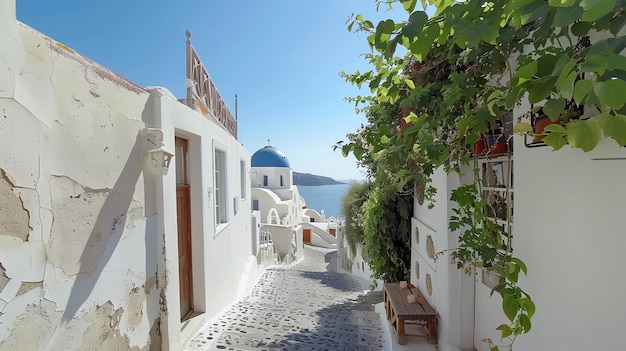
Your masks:
<svg viewBox="0 0 626 351"><path fill-rule="evenodd" d="M191 202L187 184L187 140L176 138L176 215L178 221L178 279L180 284L180 317L193 311L191 266Z"/></svg>

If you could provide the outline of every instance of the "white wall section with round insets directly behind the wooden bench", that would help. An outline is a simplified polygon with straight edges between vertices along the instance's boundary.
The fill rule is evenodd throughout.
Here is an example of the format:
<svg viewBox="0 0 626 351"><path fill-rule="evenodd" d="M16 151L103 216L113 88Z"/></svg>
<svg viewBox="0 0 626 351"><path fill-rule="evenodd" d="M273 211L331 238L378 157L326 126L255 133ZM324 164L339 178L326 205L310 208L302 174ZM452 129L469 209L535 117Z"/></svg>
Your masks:
<svg viewBox="0 0 626 351"><path fill-rule="evenodd" d="M448 176L438 169L433 175L433 186L437 188L434 207L428 208L428 201L420 205L416 196L411 220L411 282L437 311L440 350L472 348L473 311L467 309L473 306L473 278L461 274L450 256L450 249L458 245L458 233L448 229L453 208L449 199L459 183L458 176ZM430 251L429 237L433 243ZM428 291L428 279L432 293Z"/></svg>

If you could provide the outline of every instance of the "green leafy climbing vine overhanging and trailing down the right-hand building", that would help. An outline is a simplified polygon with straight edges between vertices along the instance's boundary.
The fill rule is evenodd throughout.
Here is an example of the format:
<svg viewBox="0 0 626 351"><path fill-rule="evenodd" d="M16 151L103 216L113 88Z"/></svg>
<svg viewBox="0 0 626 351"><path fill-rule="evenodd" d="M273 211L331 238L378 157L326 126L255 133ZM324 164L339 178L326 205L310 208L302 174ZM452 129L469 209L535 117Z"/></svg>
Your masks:
<svg viewBox="0 0 626 351"><path fill-rule="evenodd" d="M436 169L458 172L469 164L474 142L523 99L557 122L541 132L555 150L569 144L590 151L601 138L625 146L625 2L376 1L377 7L402 6L406 18L374 24L353 16L348 29L368 32L373 69L344 76L370 89L351 99L358 108L386 108L395 119L370 120L336 146L365 160L373 174L386 174L396 190L419 183L429 189ZM398 47L406 54L397 56ZM536 133L524 120L515 132ZM450 228L461 232L455 258L459 268L500 273L493 291L502 296L510 323L498 327L509 341L499 347L512 349L531 328L534 304L517 285L526 266L501 244L510 233L483 215L480 186L477 181L453 193L458 206Z"/></svg>

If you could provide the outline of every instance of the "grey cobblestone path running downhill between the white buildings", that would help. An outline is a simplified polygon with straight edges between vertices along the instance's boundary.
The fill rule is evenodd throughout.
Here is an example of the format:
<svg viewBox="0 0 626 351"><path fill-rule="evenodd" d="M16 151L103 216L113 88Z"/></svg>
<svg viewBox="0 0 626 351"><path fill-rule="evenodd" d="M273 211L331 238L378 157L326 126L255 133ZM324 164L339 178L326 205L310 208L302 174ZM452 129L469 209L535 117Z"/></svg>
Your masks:
<svg viewBox="0 0 626 351"><path fill-rule="evenodd" d="M184 350L383 350L374 312L382 293L364 293L356 278L334 271L336 251L305 247L304 257L291 267L268 268L247 297Z"/></svg>

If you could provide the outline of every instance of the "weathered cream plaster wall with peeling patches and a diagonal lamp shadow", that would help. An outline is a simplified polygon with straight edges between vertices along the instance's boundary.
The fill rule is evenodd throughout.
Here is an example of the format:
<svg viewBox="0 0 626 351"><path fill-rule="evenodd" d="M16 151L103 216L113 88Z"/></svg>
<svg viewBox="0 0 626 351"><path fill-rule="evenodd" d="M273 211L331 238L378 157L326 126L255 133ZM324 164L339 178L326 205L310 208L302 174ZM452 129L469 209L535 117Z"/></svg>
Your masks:
<svg viewBox="0 0 626 351"><path fill-rule="evenodd" d="M160 346L150 95L0 4L0 350Z"/></svg>

